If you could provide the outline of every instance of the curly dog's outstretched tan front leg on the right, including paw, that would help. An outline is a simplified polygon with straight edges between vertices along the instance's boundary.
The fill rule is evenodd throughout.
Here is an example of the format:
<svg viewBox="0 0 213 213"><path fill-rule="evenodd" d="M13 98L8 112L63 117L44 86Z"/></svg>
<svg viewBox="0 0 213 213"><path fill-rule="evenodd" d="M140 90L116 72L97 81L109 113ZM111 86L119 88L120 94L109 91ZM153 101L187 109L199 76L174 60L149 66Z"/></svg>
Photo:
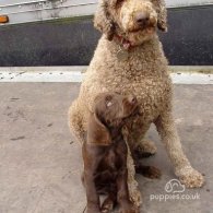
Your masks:
<svg viewBox="0 0 213 213"><path fill-rule="evenodd" d="M171 111L165 110L155 125L180 181L188 188L201 187L204 182L203 176L191 167L182 151Z"/></svg>

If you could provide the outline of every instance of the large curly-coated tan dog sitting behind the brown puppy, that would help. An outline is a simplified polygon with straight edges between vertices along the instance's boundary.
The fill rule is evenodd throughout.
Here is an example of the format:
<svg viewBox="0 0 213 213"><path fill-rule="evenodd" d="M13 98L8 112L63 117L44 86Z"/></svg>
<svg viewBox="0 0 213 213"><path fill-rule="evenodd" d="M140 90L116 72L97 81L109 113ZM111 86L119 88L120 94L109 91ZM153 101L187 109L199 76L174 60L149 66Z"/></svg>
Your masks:
<svg viewBox="0 0 213 213"><path fill-rule="evenodd" d="M187 187L201 187L203 176L193 169L182 152L171 114L171 81L167 60L156 28L166 31L164 0L100 0L95 26L103 32L79 97L70 107L72 133L83 140L88 111L102 92L134 94L140 103L140 116L129 120L126 130L133 152L154 154L153 143L143 141L154 122L174 165L175 174ZM134 168L128 158L129 188L137 203ZM137 199L139 199L137 201Z"/></svg>

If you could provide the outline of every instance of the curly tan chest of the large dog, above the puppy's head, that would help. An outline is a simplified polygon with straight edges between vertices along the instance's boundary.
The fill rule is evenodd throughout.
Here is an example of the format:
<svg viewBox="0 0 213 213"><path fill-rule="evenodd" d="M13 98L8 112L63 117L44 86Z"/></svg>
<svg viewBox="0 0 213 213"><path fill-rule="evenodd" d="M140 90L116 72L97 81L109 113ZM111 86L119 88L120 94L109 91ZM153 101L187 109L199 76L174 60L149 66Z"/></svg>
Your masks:
<svg viewBox="0 0 213 213"><path fill-rule="evenodd" d="M104 40L103 44L106 45L105 43ZM135 48L127 61L118 59L116 48L110 45L102 51L97 48L97 52L82 90L82 94L88 94L88 106L93 106L94 97L100 92L132 94L139 100L143 119L154 120L171 96L167 61L158 39Z"/></svg>

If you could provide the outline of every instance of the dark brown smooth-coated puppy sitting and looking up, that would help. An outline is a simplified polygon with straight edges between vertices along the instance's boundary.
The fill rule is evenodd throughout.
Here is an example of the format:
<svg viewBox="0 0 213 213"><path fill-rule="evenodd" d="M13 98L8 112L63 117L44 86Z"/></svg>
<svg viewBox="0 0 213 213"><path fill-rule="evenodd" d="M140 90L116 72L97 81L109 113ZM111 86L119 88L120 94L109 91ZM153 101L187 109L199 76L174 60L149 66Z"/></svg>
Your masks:
<svg viewBox="0 0 213 213"><path fill-rule="evenodd" d="M121 132L123 120L135 114L137 107L133 96L103 93L95 99L94 114L88 118L87 139L82 147L87 213L109 212L117 202L120 213L139 213L129 199L128 147ZM149 166L139 167L142 174L151 177L156 177L158 171ZM100 193L108 196L102 206Z"/></svg>

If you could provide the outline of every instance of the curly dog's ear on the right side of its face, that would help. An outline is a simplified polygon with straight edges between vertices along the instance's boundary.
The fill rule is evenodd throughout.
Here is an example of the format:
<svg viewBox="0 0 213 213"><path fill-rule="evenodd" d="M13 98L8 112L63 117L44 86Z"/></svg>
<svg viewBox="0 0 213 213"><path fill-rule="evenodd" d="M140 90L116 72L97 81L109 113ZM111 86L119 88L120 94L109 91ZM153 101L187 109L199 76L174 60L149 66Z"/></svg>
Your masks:
<svg viewBox="0 0 213 213"><path fill-rule="evenodd" d="M163 32L167 32L167 9L165 0L155 0L157 7L157 27Z"/></svg>

